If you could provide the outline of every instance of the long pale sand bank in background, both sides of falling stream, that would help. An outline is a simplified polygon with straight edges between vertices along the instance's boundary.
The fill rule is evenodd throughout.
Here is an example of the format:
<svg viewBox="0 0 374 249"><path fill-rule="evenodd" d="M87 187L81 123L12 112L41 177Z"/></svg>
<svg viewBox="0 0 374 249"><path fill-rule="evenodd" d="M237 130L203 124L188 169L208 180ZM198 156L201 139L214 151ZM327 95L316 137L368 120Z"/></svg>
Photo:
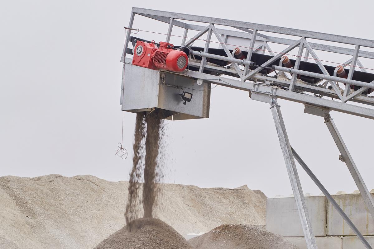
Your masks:
<svg viewBox="0 0 374 249"><path fill-rule="evenodd" d="M265 224L266 201L247 186L162 185L157 218L180 234ZM92 249L126 224L128 186L92 175L0 177L0 249Z"/></svg>

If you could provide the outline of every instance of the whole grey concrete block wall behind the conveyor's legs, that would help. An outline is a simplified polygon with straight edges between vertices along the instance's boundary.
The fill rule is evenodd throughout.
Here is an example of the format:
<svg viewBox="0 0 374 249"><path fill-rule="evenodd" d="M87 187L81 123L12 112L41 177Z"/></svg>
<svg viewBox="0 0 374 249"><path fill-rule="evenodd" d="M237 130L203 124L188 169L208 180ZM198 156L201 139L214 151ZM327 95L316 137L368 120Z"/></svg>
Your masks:
<svg viewBox="0 0 374 249"><path fill-rule="evenodd" d="M374 248L374 221L361 194L332 197ZM365 249L325 196L306 196L305 201L319 249ZM287 237L300 249L306 248L294 197L267 199L266 230Z"/></svg>

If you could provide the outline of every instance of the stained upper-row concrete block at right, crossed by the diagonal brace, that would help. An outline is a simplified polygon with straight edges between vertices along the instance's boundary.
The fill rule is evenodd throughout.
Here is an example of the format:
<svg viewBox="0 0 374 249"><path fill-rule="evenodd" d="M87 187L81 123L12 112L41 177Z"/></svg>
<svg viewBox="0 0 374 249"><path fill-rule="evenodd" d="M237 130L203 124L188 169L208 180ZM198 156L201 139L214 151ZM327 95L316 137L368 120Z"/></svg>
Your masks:
<svg viewBox="0 0 374 249"><path fill-rule="evenodd" d="M372 196L374 198L374 194ZM361 194L340 194L332 197L363 235L374 235L374 221ZM326 233L328 236L355 235L331 203L327 205Z"/></svg>

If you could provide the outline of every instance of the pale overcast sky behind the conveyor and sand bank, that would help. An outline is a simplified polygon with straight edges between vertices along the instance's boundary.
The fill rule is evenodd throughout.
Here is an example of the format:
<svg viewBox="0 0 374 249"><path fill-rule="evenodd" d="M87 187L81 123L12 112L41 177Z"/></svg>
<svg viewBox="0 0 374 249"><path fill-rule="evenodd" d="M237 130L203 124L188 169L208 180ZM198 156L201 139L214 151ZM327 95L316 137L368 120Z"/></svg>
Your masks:
<svg viewBox="0 0 374 249"><path fill-rule="evenodd" d="M123 145L129 157L114 154L121 139L123 26L133 6L373 39L373 1L3 1L0 175L91 174L128 180L133 113L125 113ZM167 25L143 20L136 17L134 28L167 31ZM374 63L365 66L374 68ZM214 88L211 95L209 119L168 122L165 182L229 188L247 184L268 197L291 194L269 106L226 87ZM357 189L338 160L323 119L303 113L301 104L279 104L292 146L329 192ZM374 121L331 115L373 189ZM298 169L304 193L319 194Z"/></svg>

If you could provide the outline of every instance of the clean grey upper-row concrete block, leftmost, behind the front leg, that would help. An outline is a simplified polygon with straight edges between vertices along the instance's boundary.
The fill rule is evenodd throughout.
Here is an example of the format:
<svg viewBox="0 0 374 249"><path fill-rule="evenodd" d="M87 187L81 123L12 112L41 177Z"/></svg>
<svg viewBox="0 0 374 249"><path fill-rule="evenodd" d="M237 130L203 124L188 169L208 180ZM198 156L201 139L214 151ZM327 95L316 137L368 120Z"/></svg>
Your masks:
<svg viewBox="0 0 374 249"><path fill-rule="evenodd" d="M305 197L315 236L326 235L325 196ZM282 236L304 236L294 198L271 198L266 204L266 230Z"/></svg>

